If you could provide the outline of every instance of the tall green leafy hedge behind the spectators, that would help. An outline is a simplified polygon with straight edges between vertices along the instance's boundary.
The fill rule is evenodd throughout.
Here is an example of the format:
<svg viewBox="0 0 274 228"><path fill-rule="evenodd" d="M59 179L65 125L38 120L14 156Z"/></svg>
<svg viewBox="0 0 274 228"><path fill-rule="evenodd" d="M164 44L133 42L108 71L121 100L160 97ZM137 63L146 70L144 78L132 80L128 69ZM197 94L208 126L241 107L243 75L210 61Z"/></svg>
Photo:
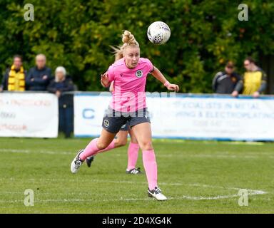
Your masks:
<svg viewBox="0 0 274 228"><path fill-rule="evenodd" d="M24 4L34 4L34 21L24 21ZM0 1L0 69L4 72L16 53L24 66L45 53L51 68L65 66L80 90L101 90L100 74L113 62L110 45L121 43L131 31L150 58L183 92L208 93L223 63L233 60L243 71L243 58L274 53L274 2L244 1L249 20L238 21L238 4L228 0L47 0ZM146 30L165 21L171 38L153 45ZM148 78L147 90L163 90Z"/></svg>

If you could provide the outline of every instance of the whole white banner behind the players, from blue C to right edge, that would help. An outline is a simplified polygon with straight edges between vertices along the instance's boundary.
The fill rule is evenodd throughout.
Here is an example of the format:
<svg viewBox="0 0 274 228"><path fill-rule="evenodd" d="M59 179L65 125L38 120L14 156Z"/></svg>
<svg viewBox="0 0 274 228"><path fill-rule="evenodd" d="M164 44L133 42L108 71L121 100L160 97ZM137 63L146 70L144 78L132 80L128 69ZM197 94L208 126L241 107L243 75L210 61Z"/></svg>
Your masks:
<svg viewBox="0 0 274 228"><path fill-rule="evenodd" d="M76 137L101 133L110 96L75 95ZM214 95L147 97L153 138L274 140L274 98Z"/></svg>

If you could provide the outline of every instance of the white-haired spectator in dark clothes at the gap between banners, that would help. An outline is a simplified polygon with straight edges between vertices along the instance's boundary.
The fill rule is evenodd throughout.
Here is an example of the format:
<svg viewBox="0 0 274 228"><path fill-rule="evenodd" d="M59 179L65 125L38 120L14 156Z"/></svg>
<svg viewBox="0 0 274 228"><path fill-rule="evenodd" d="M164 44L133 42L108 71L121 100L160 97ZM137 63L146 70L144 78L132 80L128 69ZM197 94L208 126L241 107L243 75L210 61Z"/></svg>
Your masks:
<svg viewBox="0 0 274 228"><path fill-rule="evenodd" d="M59 131L64 132L66 138L73 132L73 95L64 92L73 91L73 88L73 82L66 77L66 69L63 66L56 68L55 79L48 90L59 98Z"/></svg>

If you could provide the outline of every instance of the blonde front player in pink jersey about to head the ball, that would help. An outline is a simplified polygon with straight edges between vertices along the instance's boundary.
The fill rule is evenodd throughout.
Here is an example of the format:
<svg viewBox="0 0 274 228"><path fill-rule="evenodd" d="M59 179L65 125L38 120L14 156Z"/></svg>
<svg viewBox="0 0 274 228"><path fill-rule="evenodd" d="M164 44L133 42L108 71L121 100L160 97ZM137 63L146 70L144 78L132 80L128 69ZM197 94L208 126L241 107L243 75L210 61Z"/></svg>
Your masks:
<svg viewBox="0 0 274 228"><path fill-rule="evenodd" d="M143 166L148 180L148 196L166 200L157 184L157 163L151 140L151 124L146 109L146 76L151 73L168 90L178 92L179 87L169 83L163 74L147 58L140 58L140 47L134 36L123 33L123 58L116 61L101 76L101 83L109 86L114 81L114 91L108 113L103 117L103 130L99 138L89 142L71 162L71 172L78 172L86 157L106 150L121 126L128 121L143 151Z"/></svg>

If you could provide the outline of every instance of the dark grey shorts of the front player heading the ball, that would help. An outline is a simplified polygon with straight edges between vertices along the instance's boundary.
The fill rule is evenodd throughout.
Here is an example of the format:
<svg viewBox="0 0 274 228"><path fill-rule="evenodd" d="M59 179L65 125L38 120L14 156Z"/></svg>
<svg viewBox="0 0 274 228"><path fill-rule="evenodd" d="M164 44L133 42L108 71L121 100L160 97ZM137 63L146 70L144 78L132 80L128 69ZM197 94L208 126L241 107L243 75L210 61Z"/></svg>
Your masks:
<svg viewBox="0 0 274 228"><path fill-rule="evenodd" d="M132 128L140 123L151 123L147 108L134 113L121 113L108 108L103 117L102 127L109 133L118 133L119 130L123 130L127 126Z"/></svg>

